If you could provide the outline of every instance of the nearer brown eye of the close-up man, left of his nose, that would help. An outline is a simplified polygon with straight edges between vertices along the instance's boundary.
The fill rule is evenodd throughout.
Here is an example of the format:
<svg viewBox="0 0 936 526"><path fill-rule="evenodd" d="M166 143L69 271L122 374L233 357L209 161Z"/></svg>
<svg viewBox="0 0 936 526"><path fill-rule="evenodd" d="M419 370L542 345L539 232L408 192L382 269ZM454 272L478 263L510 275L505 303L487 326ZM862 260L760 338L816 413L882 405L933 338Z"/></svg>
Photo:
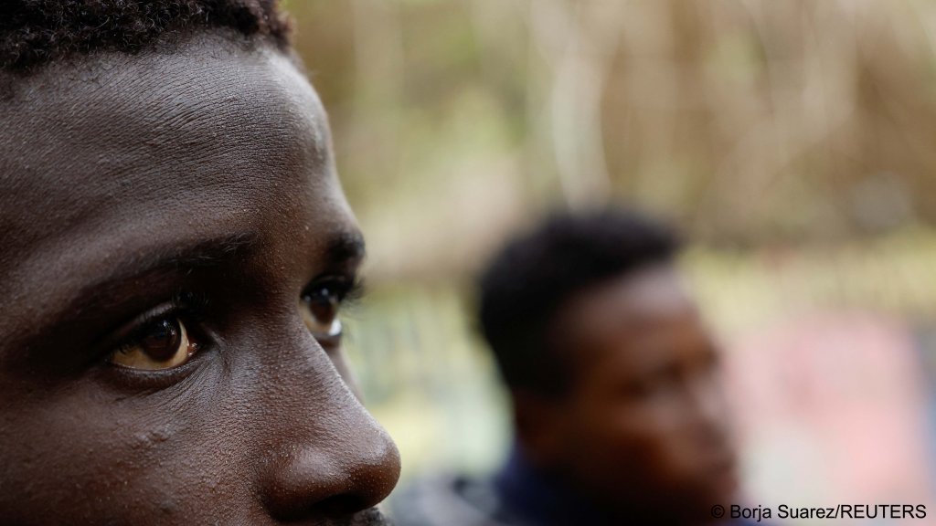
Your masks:
<svg viewBox="0 0 936 526"><path fill-rule="evenodd" d="M110 355L110 363L129 369L159 371L178 367L197 352L197 344L177 317L157 319L139 330L133 341Z"/></svg>

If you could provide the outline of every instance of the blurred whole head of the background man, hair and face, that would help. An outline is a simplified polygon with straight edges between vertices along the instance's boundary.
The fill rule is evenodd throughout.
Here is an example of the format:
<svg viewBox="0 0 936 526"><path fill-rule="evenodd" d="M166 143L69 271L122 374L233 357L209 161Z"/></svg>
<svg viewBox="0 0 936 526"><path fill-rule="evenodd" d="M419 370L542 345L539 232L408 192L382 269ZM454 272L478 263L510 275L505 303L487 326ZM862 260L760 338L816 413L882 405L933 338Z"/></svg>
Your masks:
<svg viewBox="0 0 936 526"><path fill-rule="evenodd" d="M521 452L621 519L701 519L735 487L718 352L679 248L644 216L563 214L480 281Z"/></svg>

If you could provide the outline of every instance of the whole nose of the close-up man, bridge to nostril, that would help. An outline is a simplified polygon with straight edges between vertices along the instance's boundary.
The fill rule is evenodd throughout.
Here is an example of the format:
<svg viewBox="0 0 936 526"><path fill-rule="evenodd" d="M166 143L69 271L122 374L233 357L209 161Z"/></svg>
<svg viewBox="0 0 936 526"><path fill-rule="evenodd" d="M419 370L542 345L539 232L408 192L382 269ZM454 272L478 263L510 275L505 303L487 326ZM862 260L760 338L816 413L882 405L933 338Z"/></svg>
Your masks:
<svg viewBox="0 0 936 526"><path fill-rule="evenodd" d="M262 498L281 521L334 519L382 501L400 476L400 455L318 348L278 378L268 420Z"/></svg>

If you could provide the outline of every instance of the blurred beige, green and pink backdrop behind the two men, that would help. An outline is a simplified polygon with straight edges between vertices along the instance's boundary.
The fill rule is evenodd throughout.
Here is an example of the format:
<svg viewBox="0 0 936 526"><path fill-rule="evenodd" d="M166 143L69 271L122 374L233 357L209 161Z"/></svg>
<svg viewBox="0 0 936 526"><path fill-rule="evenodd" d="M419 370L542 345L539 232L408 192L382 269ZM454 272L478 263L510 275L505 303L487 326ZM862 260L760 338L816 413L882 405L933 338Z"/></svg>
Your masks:
<svg viewBox="0 0 936 526"><path fill-rule="evenodd" d="M404 483L510 442L475 272L545 212L620 203L695 241L753 502L936 516L936 4L286 7L368 239L349 353Z"/></svg>

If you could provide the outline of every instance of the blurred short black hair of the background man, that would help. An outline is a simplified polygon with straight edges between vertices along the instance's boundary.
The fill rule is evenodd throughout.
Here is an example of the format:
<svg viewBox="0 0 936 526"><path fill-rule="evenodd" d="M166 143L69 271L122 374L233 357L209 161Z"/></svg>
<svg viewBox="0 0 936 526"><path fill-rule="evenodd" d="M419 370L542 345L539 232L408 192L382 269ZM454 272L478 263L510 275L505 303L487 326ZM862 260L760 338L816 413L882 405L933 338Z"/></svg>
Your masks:
<svg viewBox="0 0 936 526"><path fill-rule="evenodd" d="M479 280L478 319L505 383L562 394L568 368L549 344L549 327L568 300L593 285L672 262L676 231L636 212L553 214L509 241Z"/></svg>

